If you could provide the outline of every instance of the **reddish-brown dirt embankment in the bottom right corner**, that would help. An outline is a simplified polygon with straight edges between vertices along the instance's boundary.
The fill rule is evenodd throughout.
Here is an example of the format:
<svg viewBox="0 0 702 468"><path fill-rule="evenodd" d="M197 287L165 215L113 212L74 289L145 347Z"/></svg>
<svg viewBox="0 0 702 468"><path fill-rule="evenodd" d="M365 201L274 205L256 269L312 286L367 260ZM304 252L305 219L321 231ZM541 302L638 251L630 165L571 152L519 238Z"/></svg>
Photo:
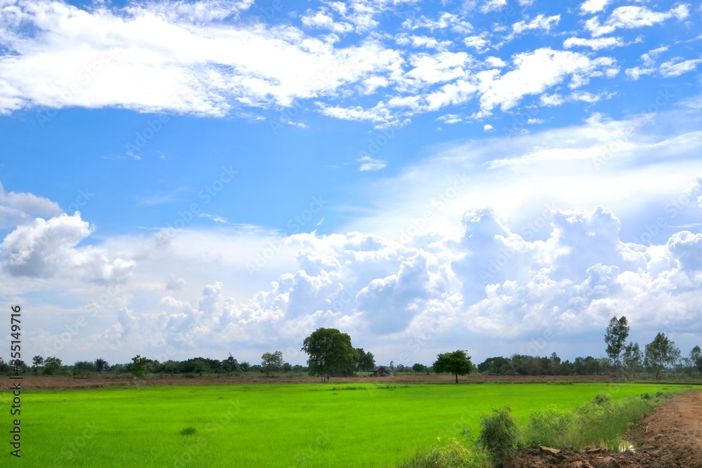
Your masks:
<svg viewBox="0 0 702 468"><path fill-rule="evenodd" d="M702 391L662 403L627 436L635 453L524 450L510 468L702 468Z"/></svg>

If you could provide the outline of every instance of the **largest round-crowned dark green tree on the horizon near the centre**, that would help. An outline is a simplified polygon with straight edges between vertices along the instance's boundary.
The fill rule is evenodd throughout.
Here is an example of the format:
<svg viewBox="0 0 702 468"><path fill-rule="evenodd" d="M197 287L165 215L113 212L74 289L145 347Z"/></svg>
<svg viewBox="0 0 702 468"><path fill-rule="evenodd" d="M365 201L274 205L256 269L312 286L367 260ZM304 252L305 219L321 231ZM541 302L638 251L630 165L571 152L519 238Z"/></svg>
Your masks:
<svg viewBox="0 0 702 468"><path fill-rule="evenodd" d="M303 341L310 375L329 381L331 375L353 375L358 366L358 352L351 337L336 328L317 328Z"/></svg>

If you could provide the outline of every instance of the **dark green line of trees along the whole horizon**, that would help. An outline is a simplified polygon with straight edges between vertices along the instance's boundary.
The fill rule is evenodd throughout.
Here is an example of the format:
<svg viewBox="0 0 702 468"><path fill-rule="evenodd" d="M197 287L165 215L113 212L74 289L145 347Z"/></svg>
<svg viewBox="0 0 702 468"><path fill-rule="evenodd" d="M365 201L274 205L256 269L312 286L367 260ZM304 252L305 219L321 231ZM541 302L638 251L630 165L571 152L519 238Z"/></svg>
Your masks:
<svg viewBox="0 0 702 468"><path fill-rule="evenodd" d="M385 366L393 373L450 373L456 376L470 373L484 375L621 375L636 377L644 374L659 378L661 373L693 375L702 373L702 349L695 346L689 356L683 358L675 342L658 333L654 340L642 349L637 342L627 342L629 335L628 321L625 316L612 317L604 335L607 357L576 357L574 361L562 361L555 352L550 356L529 356L512 354L512 356L489 357L475 366L467 352L456 350L437 355L431 366L415 363L404 366L390 362ZM18 368L10 368L0 358L0 373L22 373L34 375L73 375L87 377L95 373L131 373L135 377L147 374L171 375L205 375L237 373L308 373L309 375L329 380L332 376L349 377L361 372L369 372L376 366L371 352L352 346L351 337L336 328L318 328L303 341L300 349L307 354L307 366L291 365L284 361L280 351L266 352L261 356L260 364L237 361L234 356L217 360L204 357L186 359L185 361L159 362L137 355L130 363L110 366L105 359L95 361L77 361L72 366L64 366L56 356L34 356L32 366L20 362Z"/></svg>

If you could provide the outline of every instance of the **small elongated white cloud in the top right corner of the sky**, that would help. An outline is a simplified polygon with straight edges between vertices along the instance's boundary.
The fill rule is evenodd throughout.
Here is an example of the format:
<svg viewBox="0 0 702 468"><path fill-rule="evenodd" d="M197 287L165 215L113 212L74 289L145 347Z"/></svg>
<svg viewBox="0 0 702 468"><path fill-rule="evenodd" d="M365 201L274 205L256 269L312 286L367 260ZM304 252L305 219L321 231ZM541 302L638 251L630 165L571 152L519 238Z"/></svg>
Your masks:
<svg viewBox="0 0 702 468"><path fill-rule="evenodd" d="M620 6L612 11L604 25L599 18L590 18L585 22L585 27L593 36L610 34L616 29L636 29L644 26L653 26L670 18L682 20L689 15L689 5L682 4L666 12L651 11L645 6Z"/></svg>

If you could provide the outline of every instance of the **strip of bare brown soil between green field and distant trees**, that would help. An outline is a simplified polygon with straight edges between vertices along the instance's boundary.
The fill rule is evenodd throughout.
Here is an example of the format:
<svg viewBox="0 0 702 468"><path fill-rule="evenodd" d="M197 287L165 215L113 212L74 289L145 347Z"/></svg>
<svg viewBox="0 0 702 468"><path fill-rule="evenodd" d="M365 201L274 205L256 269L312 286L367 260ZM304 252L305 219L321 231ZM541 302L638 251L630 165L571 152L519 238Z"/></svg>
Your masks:
<svg viewBox="0 0 702 468"><path fill-rule="evenodd" d="M331 384L377 383L446 383L453 384L452 375L392 375L386 377L331 377ZM503 382L503 383L546 383L546 382L609 382L605 375L466 375L458 377L458 383ZM316 383L318 377L306 375L236 375L183 377L156 374L147 379L135 380L131 375L96 375L88 378L26 376L22 379L22 389L91 389L103 387L133 387L141 385L230 385L230 384L299 384Z"/></svg>

